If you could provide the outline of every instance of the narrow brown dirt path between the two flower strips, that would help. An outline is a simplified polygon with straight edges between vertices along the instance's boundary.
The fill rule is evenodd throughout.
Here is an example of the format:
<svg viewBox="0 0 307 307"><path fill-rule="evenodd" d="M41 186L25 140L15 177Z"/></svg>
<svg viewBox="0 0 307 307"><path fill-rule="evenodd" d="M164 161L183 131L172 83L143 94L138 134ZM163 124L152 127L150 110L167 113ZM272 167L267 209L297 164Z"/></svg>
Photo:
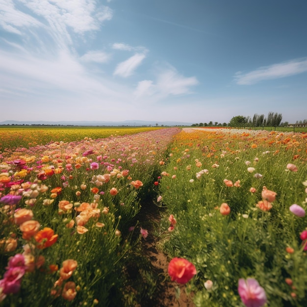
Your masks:
<svg viewBox="0 0 307 307"><path fill-rule="evenodd" d="M192 298L185 293L185 285L171 281L168 275L170 259L157 248L158 237L153 234L154 230L159 227L161 210L153 203L149 203L143 205L138 215L140 224L149 233L146 240L142 239L142 251L144 256L150 259L153 271L159 276L153 299L142 302L140 307L194 307ZM176 297L176 288L178 287L180 289L179 298Z"/></svg>

